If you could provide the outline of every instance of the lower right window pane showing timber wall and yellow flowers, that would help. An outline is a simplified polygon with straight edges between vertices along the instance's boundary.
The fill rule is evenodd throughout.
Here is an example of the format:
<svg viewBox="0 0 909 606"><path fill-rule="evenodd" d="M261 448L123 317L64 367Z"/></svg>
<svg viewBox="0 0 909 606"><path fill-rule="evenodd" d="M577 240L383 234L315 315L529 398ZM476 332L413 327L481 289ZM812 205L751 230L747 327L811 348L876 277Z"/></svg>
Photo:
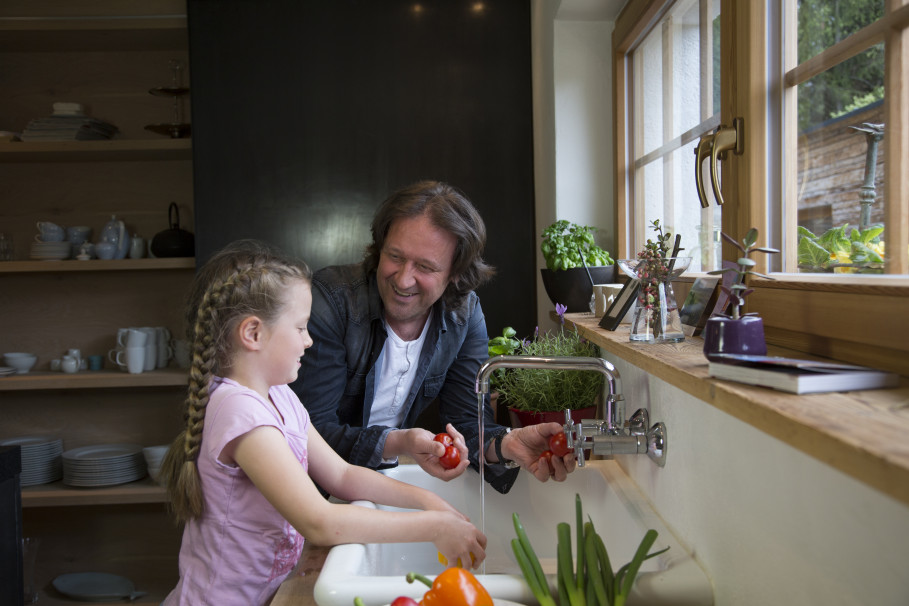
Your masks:
<svg viewBox="0 0 909 606"><path fill-rule="evenodd" d="M882 273L883 45L798 87L798 264Z"/></svg>

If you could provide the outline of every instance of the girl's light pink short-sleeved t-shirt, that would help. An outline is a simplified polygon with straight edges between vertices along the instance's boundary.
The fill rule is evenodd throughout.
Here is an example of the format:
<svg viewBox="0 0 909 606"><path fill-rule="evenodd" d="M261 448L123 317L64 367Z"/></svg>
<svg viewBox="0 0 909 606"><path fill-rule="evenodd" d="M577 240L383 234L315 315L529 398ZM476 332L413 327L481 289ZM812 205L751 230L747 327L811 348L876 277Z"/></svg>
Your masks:
<svg viewBox="0 0 909 606"><path fill-rule="evenodd" d="M242 469L218 461L231 440L271 426L284 434L308 469L306 409L286 385L272 387L268 394L274 406L230 379L213 382L197 462L205 512L183 530L180 581L165 599L167 606L264 604L300 558L303 537Z"/></svg>

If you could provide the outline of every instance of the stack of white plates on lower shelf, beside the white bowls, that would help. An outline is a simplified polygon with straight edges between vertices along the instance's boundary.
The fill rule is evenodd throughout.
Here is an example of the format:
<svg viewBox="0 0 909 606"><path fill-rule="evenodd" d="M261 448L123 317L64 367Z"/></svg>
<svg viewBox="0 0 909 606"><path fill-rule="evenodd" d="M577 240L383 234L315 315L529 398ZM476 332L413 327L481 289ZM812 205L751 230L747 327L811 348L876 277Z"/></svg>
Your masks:
<svg viewBox="0 0 909 606"><path fill-rule="evenodd" d="M68 486L115 486L148 473L137 444L98 444L63 453L63 483Z"/></svg>

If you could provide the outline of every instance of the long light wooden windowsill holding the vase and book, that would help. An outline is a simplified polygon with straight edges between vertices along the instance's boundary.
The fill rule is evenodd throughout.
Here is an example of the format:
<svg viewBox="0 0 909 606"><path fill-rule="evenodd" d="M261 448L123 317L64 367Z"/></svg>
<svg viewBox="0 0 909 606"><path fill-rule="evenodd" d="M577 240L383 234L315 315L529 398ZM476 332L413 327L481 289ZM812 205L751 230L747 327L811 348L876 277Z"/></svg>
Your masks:
<svg viewBox="0 0 909 606"><path fill-rule="evenodd" d="M629 326L599 327L589 313L565 315L603 350L909 505L909 381L896 389L795 395L711 379L699 337L682 343L628 340ZM771 355L807 357L779 347Z"/></svg>

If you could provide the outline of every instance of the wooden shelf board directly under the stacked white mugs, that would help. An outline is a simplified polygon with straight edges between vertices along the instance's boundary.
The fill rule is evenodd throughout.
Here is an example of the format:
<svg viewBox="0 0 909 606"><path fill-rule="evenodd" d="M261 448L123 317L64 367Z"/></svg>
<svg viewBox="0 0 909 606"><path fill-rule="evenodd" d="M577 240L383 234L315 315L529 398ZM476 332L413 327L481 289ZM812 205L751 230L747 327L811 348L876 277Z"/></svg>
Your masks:
<svg viewBox="0 0 909 606"><path fill-rule="evenodd" d="M28 372L24 375L0 377L0 392L46 389L111 389L117 387L180 387L185 386L189 370L162 368L136 375L122 371L83 370L64 372Z"/></svg>

